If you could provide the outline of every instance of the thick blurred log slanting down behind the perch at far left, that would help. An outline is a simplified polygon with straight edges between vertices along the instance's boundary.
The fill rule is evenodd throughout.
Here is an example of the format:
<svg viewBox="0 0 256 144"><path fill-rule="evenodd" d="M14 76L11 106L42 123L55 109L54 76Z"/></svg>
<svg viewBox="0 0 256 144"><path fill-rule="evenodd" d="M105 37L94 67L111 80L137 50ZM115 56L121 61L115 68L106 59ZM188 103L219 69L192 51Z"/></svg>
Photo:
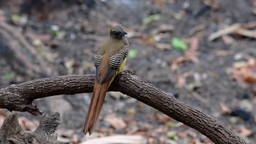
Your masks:
<svg viewBox="0 0 256 144"><path fill-rule="evenodd" d="M48 68L48 63L18 29L5 22L0 22L0 56L28 79L46 77L56 71Z"/></svg>

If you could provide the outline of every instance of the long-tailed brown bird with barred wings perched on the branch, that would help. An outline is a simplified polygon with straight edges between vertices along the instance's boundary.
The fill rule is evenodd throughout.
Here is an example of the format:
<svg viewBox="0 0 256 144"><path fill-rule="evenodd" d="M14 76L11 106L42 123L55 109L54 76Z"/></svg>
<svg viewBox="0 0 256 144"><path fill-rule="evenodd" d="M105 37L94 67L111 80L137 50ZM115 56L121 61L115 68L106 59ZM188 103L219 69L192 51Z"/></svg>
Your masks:
<svg viewBox="0 0 256 144"><path fill-rule="evenodd" d="M110 28L109 38L95 57L95 85L84 124L84 134L91 135L95 129L108 87L115 76L124 68L129 55L129 42L121 25Z"/></svg>

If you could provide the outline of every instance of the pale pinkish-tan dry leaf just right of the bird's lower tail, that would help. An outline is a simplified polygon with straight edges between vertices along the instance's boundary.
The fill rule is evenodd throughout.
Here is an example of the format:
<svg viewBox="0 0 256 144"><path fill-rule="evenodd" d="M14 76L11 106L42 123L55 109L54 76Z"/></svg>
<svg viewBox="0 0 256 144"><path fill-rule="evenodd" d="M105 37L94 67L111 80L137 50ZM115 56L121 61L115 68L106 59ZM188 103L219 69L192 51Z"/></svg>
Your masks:
<svg viewBox="0 0 256 144"><path fill-rule="evenodd" d="M127 126L121 117L116 117L114 115L106 116L104 121L112 125L115 129L123 129Z"/></svg>

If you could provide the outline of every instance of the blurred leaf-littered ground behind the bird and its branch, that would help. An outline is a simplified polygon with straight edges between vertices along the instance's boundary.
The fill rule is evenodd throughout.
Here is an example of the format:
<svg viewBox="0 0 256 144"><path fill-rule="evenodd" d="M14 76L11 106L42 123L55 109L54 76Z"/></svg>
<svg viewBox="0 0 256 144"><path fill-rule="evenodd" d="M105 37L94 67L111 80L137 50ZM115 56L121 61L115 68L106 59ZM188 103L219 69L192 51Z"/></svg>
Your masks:
<svg viewBox="0 0 256 144"><path fill-rule="evenodd" d="M0 1L0 87L94 74L94 58L120 23L130 43L124 69L256 141L256 1ZM82 130L90 93L34 101L59 111L60 143L213 143L198 131L118 92L107 94L92 135ZM0 109L0 125L8 115ZM27 131L40 116L20 112ZM131 137L108 137L132 135ZM107 137L102 140L101 137ZM91 142L92 143L92 142Z"/></svg>

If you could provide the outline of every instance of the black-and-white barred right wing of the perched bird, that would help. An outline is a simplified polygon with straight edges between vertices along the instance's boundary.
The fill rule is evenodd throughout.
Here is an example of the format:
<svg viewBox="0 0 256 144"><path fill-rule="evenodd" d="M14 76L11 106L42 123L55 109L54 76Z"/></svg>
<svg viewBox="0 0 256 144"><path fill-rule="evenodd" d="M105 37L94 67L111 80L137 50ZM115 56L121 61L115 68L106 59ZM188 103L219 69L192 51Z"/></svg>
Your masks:
<svg viewBox="0 0 256 144"><path fill-rule="evenodd" d="M117 73L117 70L123 63L124 59L128 56L128 54L129 46L125 45L123 49L121 49L117 54L109 58L108 70L101 83L108 81L115 73Z"/></svg>

